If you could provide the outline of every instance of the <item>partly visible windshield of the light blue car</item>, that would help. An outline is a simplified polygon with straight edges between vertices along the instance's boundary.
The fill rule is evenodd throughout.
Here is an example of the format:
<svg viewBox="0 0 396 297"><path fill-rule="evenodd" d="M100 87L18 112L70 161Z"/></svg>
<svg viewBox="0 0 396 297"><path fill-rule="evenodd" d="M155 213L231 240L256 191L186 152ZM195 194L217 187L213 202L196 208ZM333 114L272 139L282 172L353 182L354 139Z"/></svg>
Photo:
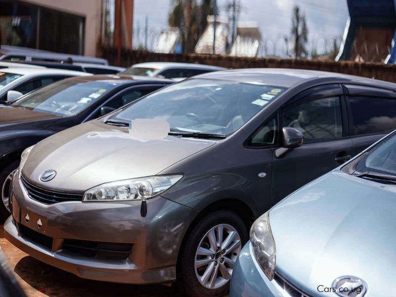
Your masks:
<svg viewBox="0 0 396 297"><path fill-rule="evenodd" d="M396 176L396 135L373 149L356 165L355 170Z"/></svg>

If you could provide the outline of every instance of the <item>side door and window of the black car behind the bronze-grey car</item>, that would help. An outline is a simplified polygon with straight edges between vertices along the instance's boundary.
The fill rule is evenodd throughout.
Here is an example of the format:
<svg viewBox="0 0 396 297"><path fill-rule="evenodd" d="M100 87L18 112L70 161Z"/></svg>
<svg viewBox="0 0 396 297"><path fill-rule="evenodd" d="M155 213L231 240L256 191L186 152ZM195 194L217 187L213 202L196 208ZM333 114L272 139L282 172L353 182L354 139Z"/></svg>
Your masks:
<svg viewBox="0 0 396 297"><path fill-rule="evenodd" d="M107 107L107 110L110 112L128 103L131 103L136 99L146 96L147 94L154 92L164 86L165 85L163 83L158 83L158 84L137 85L137 86L128 87L118 92L111 98L107 99L103 104L101 104L98 108L96 108L95 111L91 113L91 115L86 120L91 120L99 117L100 115L103 115L100 113L101 107Z"/></svg>

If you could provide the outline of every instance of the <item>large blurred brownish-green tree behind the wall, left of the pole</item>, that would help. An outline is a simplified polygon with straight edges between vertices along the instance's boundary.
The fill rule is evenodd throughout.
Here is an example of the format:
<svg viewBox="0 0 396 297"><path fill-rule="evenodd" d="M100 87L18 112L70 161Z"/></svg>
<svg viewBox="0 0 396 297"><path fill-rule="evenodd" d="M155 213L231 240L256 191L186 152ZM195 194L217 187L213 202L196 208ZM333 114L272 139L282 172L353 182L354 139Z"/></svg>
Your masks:
<svg viewBox="0 0 396 297"><path fill-rule="evenodd" d="M168 24L178 27L182 34L183 52L193 52L199 37L207 25L206 17L213 13L213 1L173 0Z"/></svg>

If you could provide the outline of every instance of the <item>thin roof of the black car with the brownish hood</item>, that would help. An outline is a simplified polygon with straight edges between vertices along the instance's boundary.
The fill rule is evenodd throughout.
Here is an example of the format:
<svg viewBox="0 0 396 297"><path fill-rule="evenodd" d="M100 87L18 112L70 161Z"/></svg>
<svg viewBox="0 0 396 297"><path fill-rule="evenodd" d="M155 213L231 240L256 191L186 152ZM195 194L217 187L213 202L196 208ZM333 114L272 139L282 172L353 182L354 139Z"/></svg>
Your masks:
<svg viewBox="0 0 396 297"><path fill-rule="evenodd" d="M79 79L79 78L69 78L69 79ZM164 84L173 84L174 81L171 79L165 78L156 78L156 77L148 77L148 76L139 76L139 75L115 75L115 74L97 74L86 76L83 78L85 81L101 81L106 83L112 83L117 85L124 85L129 83L164 83Z"/></svg>

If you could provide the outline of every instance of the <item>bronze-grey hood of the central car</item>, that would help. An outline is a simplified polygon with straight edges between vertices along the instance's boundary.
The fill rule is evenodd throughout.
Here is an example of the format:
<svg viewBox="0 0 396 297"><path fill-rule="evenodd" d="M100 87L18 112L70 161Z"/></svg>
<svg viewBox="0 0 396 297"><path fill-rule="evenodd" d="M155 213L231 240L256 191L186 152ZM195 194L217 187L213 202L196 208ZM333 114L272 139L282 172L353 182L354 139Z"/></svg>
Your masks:
<svg viewBox="0 0 396 297"><path fill-rule="evenodd" d="M106 182L156 175L213 144L174 136L138 140L130 137L128 129L94 120L38 143L22 174L47 189L81 193ZM40 175L49 169L56 171L55 178L41 182Z"/></svg>

